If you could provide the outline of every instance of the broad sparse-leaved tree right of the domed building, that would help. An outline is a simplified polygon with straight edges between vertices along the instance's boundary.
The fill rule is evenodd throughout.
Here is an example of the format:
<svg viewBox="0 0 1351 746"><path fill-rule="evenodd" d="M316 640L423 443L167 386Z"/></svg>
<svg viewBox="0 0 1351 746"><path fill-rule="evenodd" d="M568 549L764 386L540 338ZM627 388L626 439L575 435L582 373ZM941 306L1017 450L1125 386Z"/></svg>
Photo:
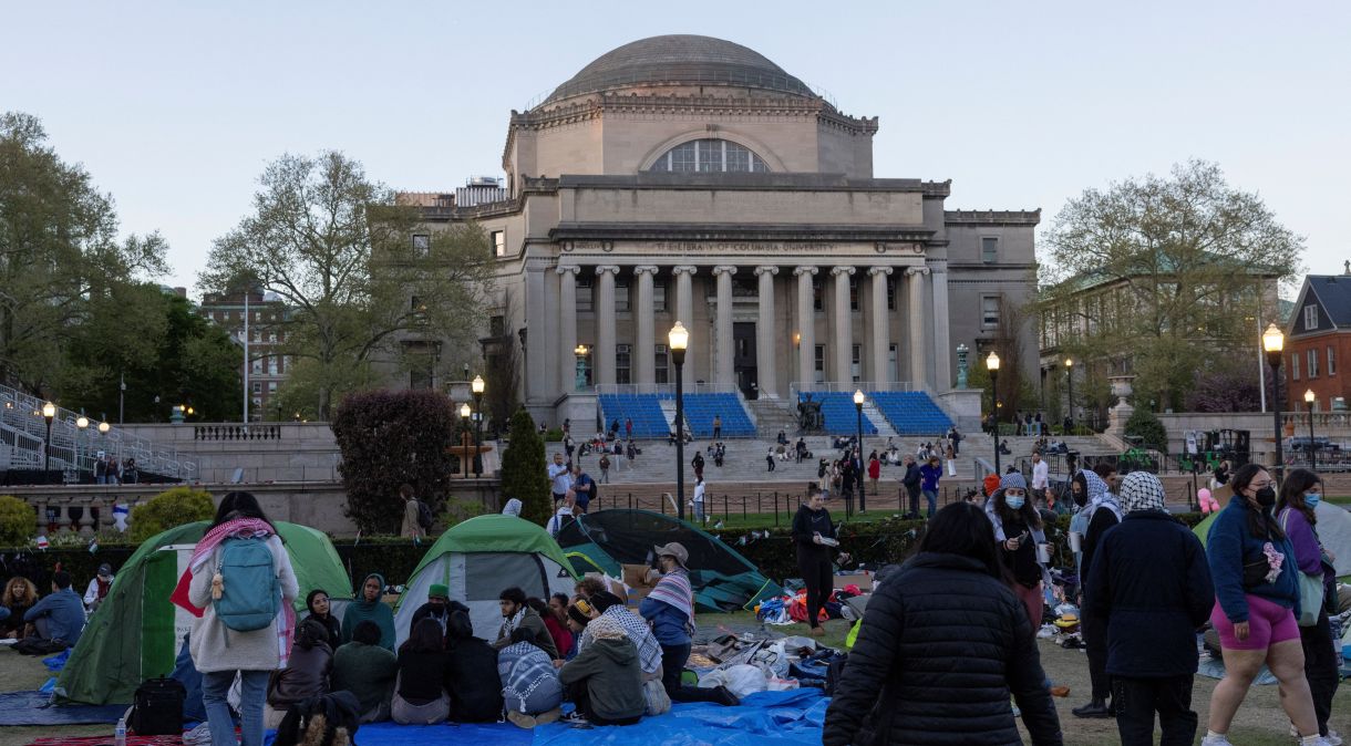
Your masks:
<svg viewBox="0 0 1351 746"><path fill-rule="evenodd" d="M1251 350L1255 320L1275 315L1273 282L1298 272L1304 247L1204 161L1085 191L1042 243L1042 312L1089 330L1062 350L1133 373L1136 403L1174 408L1206 359Z"/></svg>

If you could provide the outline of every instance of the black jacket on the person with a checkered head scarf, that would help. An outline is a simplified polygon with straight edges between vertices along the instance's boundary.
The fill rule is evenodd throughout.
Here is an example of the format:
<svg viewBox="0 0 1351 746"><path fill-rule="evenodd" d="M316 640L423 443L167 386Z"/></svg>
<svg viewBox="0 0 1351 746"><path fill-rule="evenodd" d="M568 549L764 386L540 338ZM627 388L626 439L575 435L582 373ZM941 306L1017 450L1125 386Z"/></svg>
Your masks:
<svg viewBox="0 0 1351 746"><path fill-rule="evenodd" d="M1132 678L1196 673L1196 628L1215 605L1205 550L1161 511L1138 511L1102 537L1089 574L1090 615L1106 619L1106 670Z"/></svg>

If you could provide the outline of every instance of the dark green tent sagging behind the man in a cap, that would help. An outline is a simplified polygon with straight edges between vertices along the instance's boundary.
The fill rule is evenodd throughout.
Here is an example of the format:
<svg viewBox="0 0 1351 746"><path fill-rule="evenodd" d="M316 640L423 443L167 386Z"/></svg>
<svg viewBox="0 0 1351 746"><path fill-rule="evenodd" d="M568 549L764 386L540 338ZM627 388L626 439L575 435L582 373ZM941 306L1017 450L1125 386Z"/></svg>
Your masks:
<svg viewBox="0 0 1351 746"><path fill-rule="evenodd" d="M558 534L578 572L621 577L620 565L646 565L653 547L680 542L689 551L689 581L700 611L755 608L784 589L761 574L732 547L674 516L651 511L607 509L585 514Z"/></svg>

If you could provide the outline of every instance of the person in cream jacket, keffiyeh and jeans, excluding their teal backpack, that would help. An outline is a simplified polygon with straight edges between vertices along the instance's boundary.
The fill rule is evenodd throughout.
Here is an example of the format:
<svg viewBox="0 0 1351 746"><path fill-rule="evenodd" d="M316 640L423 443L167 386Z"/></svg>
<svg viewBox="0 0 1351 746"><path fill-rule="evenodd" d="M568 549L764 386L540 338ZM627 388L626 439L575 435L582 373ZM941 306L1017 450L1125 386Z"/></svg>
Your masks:
<svg viewBox="0 0 1351 746"><path fill-rule="evenodd" d="M272 624L242 632L227 630L212 607L212 581L220 565L220 545L226 539L262 539L272 551L273 568L281 587L281 611ZM235 724L226 695L238 673L242 682L242 746L262 746L263 703L267 677L284 668L290 654L296 627L295 600L300 593L296 572L277 530L263 515L258 500L247 492L231 492L220 501L216 519L197 542L188 569L178 580L170 600L193 615L189 651L201 672L201 699L215 743L234 743Z"/></svg>

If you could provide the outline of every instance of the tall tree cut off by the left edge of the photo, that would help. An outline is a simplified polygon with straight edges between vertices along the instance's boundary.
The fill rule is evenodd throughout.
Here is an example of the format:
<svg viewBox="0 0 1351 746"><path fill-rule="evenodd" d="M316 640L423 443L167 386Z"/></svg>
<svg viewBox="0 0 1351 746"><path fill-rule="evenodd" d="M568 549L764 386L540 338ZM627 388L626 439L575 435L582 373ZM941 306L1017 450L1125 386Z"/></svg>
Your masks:
<svg viewBox="0 0 1351 746"><path fill-rule="evenodd" d="M0 116L0 384L39 396L93 305L168 270L159 235L119 242L112 197L46 141L36 118Z"/></svg>

